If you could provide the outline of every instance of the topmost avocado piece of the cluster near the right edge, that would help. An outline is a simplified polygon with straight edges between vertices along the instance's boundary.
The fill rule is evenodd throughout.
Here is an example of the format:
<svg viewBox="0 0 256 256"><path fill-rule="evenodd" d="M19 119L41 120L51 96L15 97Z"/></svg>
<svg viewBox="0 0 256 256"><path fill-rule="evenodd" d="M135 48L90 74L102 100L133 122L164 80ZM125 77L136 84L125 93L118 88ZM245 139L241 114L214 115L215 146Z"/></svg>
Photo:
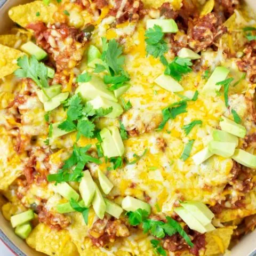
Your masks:
<svg viewBox="0 0 256 256"><path fill-rule="evenodd" d="M220 122L220 127L222 131L226 131L240 138L245 137L246 129L243 125L237 124L225 116L222 116L222 119L223 121Z"/></svg>

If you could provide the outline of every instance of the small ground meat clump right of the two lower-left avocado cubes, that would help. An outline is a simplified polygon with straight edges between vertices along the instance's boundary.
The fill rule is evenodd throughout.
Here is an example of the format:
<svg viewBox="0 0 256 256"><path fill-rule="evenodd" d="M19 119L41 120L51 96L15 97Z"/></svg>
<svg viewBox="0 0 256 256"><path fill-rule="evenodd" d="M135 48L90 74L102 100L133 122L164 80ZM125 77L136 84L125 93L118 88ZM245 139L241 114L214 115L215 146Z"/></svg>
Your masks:
<svg viewBox="0 0 256 256"><path fill-rule="evenodd" d="M37 206L38 220L48 225L52 229L63 229L70 225L70 218L60 213L53 213L39 205Z"/></svg>

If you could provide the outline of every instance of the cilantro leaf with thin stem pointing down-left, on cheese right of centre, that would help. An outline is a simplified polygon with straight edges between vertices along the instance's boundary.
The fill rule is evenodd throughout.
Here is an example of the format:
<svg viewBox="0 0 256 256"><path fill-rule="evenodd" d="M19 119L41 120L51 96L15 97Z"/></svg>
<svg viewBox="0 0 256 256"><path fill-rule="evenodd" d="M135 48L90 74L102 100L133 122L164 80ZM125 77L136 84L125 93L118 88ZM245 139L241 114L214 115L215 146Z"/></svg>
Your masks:
<svg viewBox="0 0 256 256"><path fill-rule="evenodd" d="M177 106L177 107L174 107L174 106ZM169 121L169 119L175 119L175 117L177 117L178 115L182 113L186 113L187 106L188 106L187 101L182 100L182 101L175 102L174 104L172 104L167 108L164 108L162 110L163 121L161 122L161 124L158 126L156 130L163 130L165 124Z"/></svg>

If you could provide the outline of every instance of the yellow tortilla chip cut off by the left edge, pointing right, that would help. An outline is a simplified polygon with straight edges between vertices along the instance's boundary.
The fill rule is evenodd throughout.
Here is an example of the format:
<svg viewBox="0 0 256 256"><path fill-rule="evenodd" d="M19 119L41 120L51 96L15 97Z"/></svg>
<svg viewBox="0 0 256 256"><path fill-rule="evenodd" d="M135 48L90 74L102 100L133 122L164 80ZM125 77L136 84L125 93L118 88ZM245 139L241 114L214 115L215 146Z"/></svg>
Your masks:
<svg viewBox="0 0 256 256"><path fill-rule="evenodd" d="M18 67L17 59L24 53L0 44L0 78L12 74Z"/></svg>

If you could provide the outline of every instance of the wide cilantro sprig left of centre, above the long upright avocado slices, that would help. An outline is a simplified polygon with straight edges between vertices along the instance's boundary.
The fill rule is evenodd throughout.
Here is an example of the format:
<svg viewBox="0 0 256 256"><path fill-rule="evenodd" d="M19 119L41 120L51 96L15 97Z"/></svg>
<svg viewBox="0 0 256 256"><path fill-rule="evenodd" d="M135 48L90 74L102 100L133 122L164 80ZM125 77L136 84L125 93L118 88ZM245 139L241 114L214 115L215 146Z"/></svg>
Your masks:
<svg viewBox="0 0 256 256"><path fill-rule="evenodd" d="M47 180L56 183L81 181L85 164L89 162L101 164L100 159L86 154L91 146L78 147L74 145L71 156L64 162L62 168L56 174L47 175Z"/></svg>

